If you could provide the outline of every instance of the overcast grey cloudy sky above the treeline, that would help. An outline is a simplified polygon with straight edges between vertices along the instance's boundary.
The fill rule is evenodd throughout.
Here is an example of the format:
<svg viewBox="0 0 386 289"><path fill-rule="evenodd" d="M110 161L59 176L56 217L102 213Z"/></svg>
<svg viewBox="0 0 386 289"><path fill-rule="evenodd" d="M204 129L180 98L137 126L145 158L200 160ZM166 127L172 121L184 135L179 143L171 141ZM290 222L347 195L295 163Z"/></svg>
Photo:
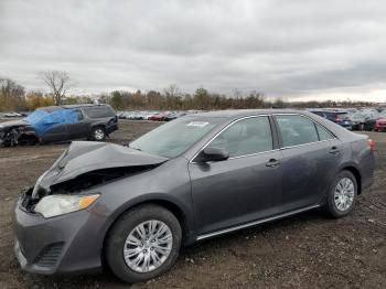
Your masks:
<svg viewBox="0 0 386 289"><path fill-rule="evenodd" d="M0 77L67 71L77 93L176 84L386 100L385 1L0 0Z"/></svg>

